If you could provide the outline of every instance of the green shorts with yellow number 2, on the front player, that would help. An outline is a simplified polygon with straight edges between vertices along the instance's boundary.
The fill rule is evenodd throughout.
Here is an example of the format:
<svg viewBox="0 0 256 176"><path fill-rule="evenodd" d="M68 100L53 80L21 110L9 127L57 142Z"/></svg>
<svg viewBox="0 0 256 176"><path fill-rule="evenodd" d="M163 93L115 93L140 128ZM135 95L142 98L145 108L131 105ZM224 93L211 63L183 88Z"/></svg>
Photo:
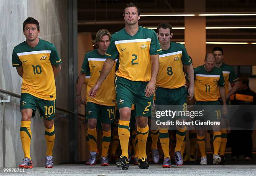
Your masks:
<svg viewBox="0 0 256 176"><path fill-rule="evenodd" d="M121 77L116 77L116 102L118 109L128 107L132 104L136 107L135 116L151 116L151 104L153 95L145 96L148 82L132 81Z"/></svg>

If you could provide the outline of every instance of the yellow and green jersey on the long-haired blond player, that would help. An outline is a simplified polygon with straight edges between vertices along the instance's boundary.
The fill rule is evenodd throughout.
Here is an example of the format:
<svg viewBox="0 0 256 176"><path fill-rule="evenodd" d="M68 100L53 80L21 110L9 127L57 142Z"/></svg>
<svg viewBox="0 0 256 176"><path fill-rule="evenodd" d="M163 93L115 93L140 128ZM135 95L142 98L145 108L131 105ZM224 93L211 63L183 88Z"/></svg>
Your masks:
<svg viewBox="0 0 256 176"><path fill-rule="evenodd" d="M90 79L88 80L86 91L87 95L89 94L91 88L96 84L98 78L100 77L101 69L105 63L105 55L100 55L98 50L93 50L85 54L84 62L82 64L81 73L90 72ZM99 90L97 90L97 96L92 98L90 96L86 96L86 102L93 102L100 105L105 106L115 106L115 65L117 63L117 59L115 60L115 64L113 68L110 70L109 75L103 81Z"/></svg>

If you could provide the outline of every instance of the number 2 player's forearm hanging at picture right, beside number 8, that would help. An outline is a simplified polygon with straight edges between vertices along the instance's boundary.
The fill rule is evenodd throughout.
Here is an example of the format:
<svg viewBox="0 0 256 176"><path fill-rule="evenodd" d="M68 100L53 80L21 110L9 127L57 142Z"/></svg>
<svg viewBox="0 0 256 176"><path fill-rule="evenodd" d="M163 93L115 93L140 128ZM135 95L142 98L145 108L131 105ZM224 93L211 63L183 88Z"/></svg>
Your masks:
<svg viewBox="0 0 256 176"><path fill-rule="evenodd" d="M145 96L150 97L154 94L156 88L156 77L159 70L159 54L150 55L152 67L151 67L151 79L148 82L145 90Z"/></svg>

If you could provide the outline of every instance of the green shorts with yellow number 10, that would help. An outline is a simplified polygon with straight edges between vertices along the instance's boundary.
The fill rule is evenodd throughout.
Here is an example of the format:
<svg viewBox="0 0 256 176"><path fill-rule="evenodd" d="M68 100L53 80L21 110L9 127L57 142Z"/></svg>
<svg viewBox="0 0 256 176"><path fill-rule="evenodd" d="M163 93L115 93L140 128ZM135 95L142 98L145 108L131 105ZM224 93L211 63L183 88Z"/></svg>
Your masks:
<svg viewBox="0 0 256 176"><path fill-rule="evenodd" d="M51 121L55 116L55 100L43 100L32 96L29 93L21 93L20 98L20 111L23 109L32 109L32 117L36 114L36 108L41 117Z"/></svg>

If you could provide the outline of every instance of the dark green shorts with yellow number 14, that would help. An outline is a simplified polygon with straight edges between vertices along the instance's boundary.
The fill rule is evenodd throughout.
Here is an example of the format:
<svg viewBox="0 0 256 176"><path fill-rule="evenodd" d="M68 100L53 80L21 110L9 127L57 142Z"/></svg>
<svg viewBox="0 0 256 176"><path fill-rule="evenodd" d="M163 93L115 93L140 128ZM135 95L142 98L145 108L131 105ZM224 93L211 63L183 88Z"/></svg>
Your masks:
<svg viewBox="0 0 256 176"><path fill-rule="evenodd" d="M115 106L104 106L87 102L87 118L96 118L100 123L113 123L115 118Z"/></svg>

